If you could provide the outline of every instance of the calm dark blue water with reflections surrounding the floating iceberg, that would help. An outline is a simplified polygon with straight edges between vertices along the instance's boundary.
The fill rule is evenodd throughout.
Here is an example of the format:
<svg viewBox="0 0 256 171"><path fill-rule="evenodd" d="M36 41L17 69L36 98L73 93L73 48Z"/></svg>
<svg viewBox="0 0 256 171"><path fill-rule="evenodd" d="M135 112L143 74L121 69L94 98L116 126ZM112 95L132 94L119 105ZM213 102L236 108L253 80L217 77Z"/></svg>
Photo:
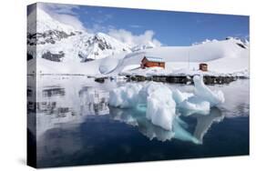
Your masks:
<svg viewBox="0 0 256 171"><path fill-rule="evenodd" d="M124 84L45 76L37 82L37 93L29 86L28 99L37 99L36 105L28 102L28 117L36 118L36 130L28 127L36 135L37 166L249 155L249 80L210 86L223 91L225 104L211 108L208 116L180 117L200 145L170 138L138 110L108 106L108 92ZM169 86L193 91L192 85Z"/></svg>

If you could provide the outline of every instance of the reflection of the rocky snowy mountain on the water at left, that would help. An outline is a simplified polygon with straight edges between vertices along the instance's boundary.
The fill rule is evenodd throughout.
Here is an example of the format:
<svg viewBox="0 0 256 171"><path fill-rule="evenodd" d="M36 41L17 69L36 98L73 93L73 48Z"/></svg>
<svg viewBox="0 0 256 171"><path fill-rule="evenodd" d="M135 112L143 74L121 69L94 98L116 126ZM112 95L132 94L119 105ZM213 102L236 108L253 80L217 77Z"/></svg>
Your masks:
<svg viewBox="0 0 256 171"><path fill-rule="evenodd" d="M31 126L36 126L37 136L64 124L77 126L89 115L109 113L108 92L93 87L56 84L37 87L35 91L30 85L27 96L28 116L35 118L29 120L35 121Z"/></svg>

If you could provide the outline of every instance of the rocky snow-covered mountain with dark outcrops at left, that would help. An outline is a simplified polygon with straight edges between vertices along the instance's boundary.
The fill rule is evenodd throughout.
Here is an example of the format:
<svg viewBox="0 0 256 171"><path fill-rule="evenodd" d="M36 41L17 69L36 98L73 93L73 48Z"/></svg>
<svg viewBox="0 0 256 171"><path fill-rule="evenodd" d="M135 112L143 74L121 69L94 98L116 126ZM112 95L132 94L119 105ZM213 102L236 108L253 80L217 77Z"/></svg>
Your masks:
<svg viewBox="0 0 256 171"><path fill-rule="evenodd" d="M56 21L40 8L28 15L28 22L28 59L39 57L53 62L80 63L131 52L128 45L114 37L77 30Z"/></svg>

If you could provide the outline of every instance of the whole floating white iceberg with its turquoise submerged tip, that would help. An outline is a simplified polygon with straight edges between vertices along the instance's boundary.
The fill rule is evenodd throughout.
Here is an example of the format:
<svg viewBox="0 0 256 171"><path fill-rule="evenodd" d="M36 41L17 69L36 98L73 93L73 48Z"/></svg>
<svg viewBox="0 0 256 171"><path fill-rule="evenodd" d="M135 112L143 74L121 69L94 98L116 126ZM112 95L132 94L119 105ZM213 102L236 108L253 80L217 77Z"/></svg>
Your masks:
<svg viewBox="0 0 256 171"><path fill-rule="evenodd" d="M162 83L127 84L110 91L109 105L119 108L134 107L145 112L153 125L169 131L169 139L173 136L199 144L200 140L191 136L182 126L184 122L179 119L176 106L178 109L185 109L187 116L188 113L208 115L210 106L224 103L224 95L221 91L210 90L204 85L200 75L195 75L193 81L194 94L181 93L179 89L171 90ZM140 106L144 106L145 109Z"/></svg>

